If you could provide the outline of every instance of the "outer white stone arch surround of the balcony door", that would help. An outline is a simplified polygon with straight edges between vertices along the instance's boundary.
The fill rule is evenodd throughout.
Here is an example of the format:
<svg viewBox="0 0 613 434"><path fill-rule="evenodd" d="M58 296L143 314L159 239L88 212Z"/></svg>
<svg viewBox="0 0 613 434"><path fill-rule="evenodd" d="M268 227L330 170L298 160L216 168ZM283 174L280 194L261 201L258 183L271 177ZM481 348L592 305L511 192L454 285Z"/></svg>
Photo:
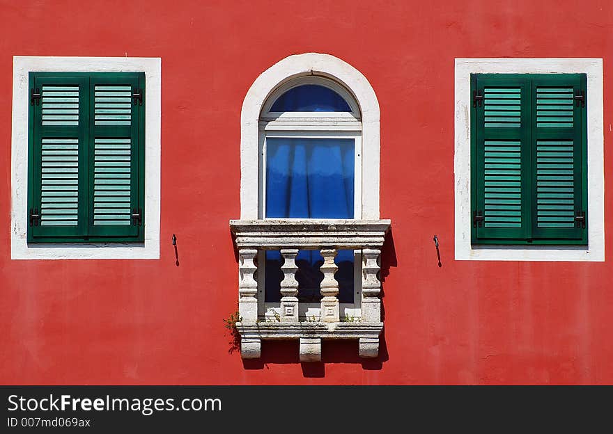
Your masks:
<svg viewBox="0 0 613 434"><path fill-rule="evenodd" d="M366 77L329 54L288 56L263 72L247 91L240 117L240 216L258 218L259 120L274 90L297 77L319 75L340 83L359 105L362 115L362 218L379 218L379 103Z"/></svg>

